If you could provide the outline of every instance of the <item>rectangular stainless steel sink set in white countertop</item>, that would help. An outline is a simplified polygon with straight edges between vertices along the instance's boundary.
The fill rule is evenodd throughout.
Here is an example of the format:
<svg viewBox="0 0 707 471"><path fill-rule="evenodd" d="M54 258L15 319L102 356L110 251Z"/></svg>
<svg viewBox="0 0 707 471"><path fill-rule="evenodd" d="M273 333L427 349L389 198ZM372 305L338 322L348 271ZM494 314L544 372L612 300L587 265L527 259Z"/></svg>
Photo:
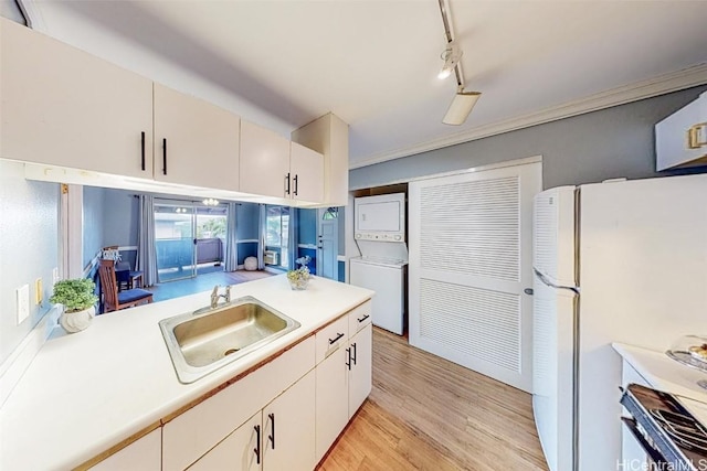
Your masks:
<svg viewBox="0 0 707 471"><path fill-rule="evenodd" d="M180 383L189 384L297 329L299 322L246 296L159 322Z"/></svg>

